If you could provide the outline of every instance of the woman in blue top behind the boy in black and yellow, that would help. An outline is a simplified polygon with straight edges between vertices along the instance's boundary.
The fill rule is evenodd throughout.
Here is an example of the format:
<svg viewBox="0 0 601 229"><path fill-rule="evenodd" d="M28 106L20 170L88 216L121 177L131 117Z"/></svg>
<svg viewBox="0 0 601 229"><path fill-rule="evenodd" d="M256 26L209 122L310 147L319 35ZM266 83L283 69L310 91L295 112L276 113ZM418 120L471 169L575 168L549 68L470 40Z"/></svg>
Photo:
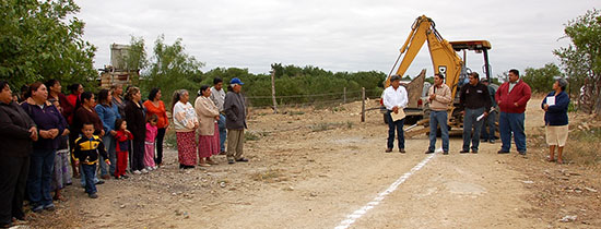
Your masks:
<svg viewBox="0 0 601 229"><path fill-rule="evenodd" d="M98 93L98 104L95 109L101 121L103 121L104 131L106 133L103 136L103 144L105 145L108 160L110 161L108 171L104 159L99 160L101 178L106 180L109 179L110 176L115 176L115 166L117 164L115 155L115 135L117 134L115 130L115 120L120 119L121 116L119 114L117 105L113 104L113 95L108 89L101 89ZM110 176L108 173L110 173Z"/></svg>

